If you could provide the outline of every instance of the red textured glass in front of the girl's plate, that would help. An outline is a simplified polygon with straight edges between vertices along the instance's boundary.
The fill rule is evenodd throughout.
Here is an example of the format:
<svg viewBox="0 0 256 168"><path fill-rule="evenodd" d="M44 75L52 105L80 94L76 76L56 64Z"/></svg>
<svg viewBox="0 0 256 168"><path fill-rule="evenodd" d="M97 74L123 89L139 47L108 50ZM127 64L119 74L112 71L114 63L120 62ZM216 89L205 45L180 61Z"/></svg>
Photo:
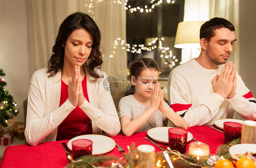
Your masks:
<svg viewBox="0 0 256 168"><path fill-rule="evenodd" d="M183 128L169 128L169 147L180 153L186 153L188 131Z"/></svg>

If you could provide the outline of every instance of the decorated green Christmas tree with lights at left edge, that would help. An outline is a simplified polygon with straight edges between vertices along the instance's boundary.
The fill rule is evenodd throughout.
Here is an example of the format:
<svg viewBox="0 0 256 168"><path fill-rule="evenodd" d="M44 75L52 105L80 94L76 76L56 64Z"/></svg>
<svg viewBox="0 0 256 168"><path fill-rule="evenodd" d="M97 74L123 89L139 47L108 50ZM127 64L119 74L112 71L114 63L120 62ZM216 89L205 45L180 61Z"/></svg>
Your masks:
<svg viewBox="0 0 256 168"><path fill-rule="evenodd" d="M4 89L6 82L1 76L5 76L2 69L0 69L0 125L5 128L8 126L7 120L12 119L13 116L16 116L19 113L19 111L15 109L17 104L13 102L13 97Z"/></svg>

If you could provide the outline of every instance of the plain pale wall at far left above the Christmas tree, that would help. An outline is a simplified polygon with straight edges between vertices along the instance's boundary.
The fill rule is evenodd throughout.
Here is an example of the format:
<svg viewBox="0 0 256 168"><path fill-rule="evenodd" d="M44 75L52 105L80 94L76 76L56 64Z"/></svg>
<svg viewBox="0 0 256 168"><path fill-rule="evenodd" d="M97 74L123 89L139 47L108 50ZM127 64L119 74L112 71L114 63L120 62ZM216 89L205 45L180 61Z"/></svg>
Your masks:
<svg viewBox="0 0 256 168"><path fill-rule="evenodd" d="M5 72L5 89L18 104L15 120L21 122L30 80L26 25L25 0L0 0L0 68Z"/></svg>

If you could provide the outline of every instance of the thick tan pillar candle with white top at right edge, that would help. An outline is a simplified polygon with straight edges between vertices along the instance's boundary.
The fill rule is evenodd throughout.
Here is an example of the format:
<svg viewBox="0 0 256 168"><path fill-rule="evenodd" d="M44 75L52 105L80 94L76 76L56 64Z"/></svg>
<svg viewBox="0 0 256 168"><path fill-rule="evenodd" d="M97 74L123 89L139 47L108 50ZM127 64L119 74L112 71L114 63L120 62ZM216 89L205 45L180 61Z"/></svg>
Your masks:
<svg viewBox="0 0 256 168"><path fill-rule="evenodd" d="M256 143L256 122L246 120L242 123L241 143Z"/></svg>

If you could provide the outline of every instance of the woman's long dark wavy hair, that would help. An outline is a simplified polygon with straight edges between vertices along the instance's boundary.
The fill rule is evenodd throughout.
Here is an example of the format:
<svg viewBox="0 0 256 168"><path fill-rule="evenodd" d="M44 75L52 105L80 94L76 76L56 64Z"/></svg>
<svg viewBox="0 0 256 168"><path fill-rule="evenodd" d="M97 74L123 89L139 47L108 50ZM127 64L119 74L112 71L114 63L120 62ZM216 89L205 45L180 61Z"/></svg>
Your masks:
<svg viewBox="0 0 256 168"><path fill-rule="evenodd" d="M62 45L66 45L68 36L77 29L84 29L93 37L92 52L85 62L85 67L88 70L88 73L93 78L103 77L94 71L95 67L101 68L103 62L102 54L100 52L100 30L89 15L81 12L76 12L67 16L61 23L55 44L52 47L53 54L48 61L48 73L50 73L48 77L52 77L56 75L57 72L63 70L64 47Z"/></svg>

